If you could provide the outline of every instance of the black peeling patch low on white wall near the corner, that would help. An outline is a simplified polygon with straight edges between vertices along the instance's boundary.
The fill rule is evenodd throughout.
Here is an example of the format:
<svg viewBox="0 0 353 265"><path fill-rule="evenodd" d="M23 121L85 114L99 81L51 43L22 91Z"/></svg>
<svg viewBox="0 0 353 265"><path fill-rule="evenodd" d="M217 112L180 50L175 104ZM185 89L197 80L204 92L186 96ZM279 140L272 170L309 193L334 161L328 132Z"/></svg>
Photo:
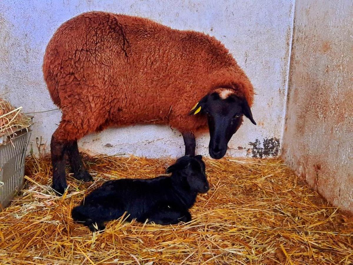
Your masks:
<svg viewBox="0 0 353 265"><path fill-rule="evenodd" d="M276 137L263 139L263 147L261 147L261 142L259 139L256 139L255 142L250 142L249 145L252 146L252 157L263 158L277 156L280 150L280 140Z"/></svg>

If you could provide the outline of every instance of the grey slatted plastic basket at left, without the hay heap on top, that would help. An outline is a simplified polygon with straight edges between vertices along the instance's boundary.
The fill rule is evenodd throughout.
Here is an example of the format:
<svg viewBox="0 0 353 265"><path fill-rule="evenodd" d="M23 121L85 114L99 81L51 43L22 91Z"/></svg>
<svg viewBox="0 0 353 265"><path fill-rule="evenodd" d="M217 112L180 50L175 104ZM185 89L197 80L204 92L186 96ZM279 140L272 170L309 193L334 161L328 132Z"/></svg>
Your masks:
<svg viewBox="0 0 353 265"><path fill-rule="evenodd" d="M0 212L23 187L26 148L32 126L0 136ZM10 137L12 138L10 141Z"/></svg>

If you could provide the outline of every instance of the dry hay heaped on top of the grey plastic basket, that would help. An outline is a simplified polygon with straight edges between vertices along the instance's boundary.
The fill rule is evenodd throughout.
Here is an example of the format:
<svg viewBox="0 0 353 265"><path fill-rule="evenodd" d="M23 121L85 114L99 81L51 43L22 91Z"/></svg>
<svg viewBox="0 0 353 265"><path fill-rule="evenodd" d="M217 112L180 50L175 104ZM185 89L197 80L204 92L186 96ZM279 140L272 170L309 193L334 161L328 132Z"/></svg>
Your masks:
<svg viewBox="0 0 353 265"><path fill-rule="evenodd" d="M22 107L14 108L10 102L0 98L0 136L12 135L29 126L31 118L22 112Z"/></svg>

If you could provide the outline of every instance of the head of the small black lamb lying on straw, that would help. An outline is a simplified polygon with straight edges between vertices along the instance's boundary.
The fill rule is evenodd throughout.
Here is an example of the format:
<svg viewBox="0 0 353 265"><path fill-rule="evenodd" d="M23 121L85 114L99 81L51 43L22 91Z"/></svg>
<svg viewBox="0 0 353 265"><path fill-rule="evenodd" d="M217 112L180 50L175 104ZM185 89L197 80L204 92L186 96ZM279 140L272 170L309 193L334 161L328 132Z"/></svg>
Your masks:
<svg viewBox="0 0 353 265"><path fill-rule="evenodd" d="M201 155L181 157L166 172L172 173L172 178L177 182L186 181L195 192L206 193L210 188Z"/></svg>

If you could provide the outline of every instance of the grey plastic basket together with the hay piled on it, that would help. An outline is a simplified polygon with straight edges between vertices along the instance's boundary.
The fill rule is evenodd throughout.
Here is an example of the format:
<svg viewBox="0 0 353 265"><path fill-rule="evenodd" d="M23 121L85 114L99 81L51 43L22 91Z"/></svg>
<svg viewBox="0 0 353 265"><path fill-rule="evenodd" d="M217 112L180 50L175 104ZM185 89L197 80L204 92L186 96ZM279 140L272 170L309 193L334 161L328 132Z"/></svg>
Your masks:
<svg viewBox="0 0 353 265"><path fill-rule="evenodd" d="M0 99L0 211L22 188L32 117Z"/></svg>

